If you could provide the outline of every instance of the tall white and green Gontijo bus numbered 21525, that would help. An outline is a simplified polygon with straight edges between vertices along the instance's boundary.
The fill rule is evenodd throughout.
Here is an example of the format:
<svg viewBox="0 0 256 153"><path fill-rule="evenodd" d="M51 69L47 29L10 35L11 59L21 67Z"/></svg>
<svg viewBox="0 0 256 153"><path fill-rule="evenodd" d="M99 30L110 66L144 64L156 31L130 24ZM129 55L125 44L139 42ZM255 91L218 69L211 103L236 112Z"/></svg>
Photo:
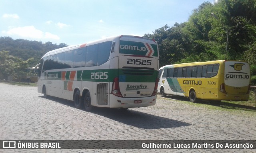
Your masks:
<svg viewBox="0 0 256 153"><path fill-rule="evenodd" d="M76 108L156 104L158 44L121 35L49 51L38 65L38 92L73 100Z"/></svg>

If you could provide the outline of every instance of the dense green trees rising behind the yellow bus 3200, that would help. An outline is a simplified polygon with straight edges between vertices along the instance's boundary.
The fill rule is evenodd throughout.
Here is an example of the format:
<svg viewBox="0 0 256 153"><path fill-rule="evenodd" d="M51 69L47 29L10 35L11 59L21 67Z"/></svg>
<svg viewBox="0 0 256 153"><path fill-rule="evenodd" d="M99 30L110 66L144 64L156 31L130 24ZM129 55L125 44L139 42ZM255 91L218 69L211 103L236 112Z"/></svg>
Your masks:
<svg viewBox="0 0 256 153"><path fill-rule="evenodd" d="M225 57L256 65L256 1L204 2L187 22L165 25L144 36L158 41L160 67Z"/></svg>

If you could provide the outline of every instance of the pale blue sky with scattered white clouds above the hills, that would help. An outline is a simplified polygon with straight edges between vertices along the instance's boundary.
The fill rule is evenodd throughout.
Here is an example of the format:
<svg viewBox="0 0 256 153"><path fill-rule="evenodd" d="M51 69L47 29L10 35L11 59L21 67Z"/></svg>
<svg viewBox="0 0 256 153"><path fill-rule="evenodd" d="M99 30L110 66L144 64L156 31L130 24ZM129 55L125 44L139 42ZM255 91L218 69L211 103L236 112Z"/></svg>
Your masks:
<svg viewBox="0 0 256 153"><path fill-rule="evenodd" d="M153 33L214 0L0 0L0 37L67 45Z"/></svg>

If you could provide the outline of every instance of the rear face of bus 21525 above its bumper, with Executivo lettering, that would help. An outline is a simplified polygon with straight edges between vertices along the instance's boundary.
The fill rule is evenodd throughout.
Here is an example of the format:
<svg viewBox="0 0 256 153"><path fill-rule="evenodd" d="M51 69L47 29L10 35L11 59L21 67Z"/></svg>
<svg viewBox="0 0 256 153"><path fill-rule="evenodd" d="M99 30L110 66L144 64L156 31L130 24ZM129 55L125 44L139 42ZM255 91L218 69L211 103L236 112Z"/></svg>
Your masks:
<svg viewBox="0 0 256 153"><path fill-rule="evenodd" d="M122 96L151 96L157 77L157 43L142 37L120 37L119 86Z"/></svg>

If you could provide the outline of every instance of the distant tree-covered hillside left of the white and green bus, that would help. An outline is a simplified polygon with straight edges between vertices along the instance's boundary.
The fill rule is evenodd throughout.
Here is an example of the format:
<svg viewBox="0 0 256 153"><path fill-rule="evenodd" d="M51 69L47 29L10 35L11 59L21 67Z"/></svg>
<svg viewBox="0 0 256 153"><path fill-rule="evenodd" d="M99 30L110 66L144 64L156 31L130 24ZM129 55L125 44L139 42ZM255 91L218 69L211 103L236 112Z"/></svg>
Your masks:
<svg viewBox="0 0 256 153"><path fill-rule="evenodd" d="M40 63L41 57L48 51L66 47L64 43L52 44L41 41L12 39L0 37L0 79L20 80L28 74L26 68L34 67Z"/></svg>

